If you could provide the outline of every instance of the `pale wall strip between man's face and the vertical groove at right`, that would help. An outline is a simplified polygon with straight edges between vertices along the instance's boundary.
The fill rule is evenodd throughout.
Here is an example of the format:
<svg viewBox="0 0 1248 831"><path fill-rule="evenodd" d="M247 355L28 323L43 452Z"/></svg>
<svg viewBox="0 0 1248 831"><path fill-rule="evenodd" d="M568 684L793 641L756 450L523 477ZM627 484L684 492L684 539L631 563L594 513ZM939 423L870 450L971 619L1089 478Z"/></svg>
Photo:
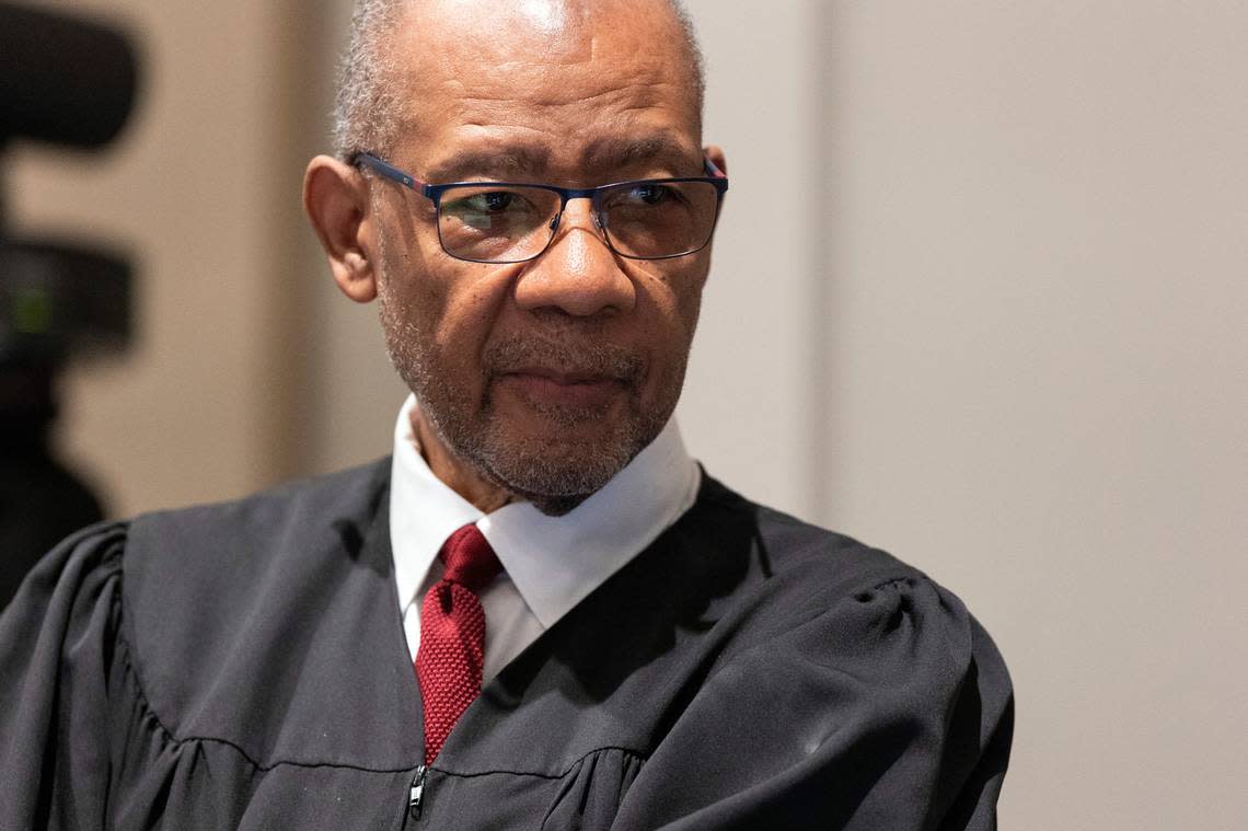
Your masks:
<svg viewBox="0 0 1248 831"><path fill-rule="evenodd" d="M704 137L731 182L685 393L690 452L748 495L821 508L821 76L815 0L690 0L706 56Z"/></svg>

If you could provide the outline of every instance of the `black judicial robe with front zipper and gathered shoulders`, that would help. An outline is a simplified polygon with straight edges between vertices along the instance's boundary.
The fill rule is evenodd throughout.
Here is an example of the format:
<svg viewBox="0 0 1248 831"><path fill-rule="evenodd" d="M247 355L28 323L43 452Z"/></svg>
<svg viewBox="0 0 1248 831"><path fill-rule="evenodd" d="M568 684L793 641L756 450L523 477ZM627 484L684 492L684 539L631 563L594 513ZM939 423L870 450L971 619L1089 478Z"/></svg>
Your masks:
<svg viewBox="0 0 1248 831"><path fill-rule="evenodd" d="M709 478L422 770L388 472L51 553L0 618L0 829L996 826L1012 695L963 605Z"/></svg>

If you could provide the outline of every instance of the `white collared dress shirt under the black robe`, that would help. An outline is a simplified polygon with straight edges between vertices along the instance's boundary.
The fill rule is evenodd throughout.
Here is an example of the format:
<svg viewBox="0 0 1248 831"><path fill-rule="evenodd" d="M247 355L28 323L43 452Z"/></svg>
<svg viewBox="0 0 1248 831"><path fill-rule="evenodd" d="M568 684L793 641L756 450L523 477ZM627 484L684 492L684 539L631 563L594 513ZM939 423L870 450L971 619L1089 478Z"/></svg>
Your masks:
<svg viewBox="0 0 1248 831"><path fill-rule="evenodd" d="M394 427L389 504L394 579L413 661L421 603L442 579L438 550L457 528L475 523L503 564L479 595L488 680L676 522L701 484L673 418L628 467L568 514L547 517L528 502L483 514L426 464L412 427L416 407L409 396Z"/></svg>

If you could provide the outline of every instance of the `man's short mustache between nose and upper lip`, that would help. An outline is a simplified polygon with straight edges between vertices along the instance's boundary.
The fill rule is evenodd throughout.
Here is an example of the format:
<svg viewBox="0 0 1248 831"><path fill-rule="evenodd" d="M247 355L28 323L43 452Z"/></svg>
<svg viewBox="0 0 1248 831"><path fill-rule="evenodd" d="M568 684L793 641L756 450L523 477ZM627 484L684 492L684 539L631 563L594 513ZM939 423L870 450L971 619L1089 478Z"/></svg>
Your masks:
<svg viewBox="0 0 1248 831"><path fill-rule="evenodd" d="M487 379L518 369L542 367L631 384L641 378L645 362L630 349L602 341L515 334L488 344L482 353L482 367Z"/></svg>

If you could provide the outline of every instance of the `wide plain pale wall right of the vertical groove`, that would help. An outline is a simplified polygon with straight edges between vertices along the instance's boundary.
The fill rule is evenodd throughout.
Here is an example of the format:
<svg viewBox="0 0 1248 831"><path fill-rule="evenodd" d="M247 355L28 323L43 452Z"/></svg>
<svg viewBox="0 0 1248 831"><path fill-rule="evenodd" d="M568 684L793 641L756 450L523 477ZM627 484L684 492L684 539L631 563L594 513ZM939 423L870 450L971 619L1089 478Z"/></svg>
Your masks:
<svg viewBox="0 0 1248 831"><path fill-rule="evenodd" d="M825 515L1018 692L1005 827L1248 827L1248 5L836 2Z"/></svg>

